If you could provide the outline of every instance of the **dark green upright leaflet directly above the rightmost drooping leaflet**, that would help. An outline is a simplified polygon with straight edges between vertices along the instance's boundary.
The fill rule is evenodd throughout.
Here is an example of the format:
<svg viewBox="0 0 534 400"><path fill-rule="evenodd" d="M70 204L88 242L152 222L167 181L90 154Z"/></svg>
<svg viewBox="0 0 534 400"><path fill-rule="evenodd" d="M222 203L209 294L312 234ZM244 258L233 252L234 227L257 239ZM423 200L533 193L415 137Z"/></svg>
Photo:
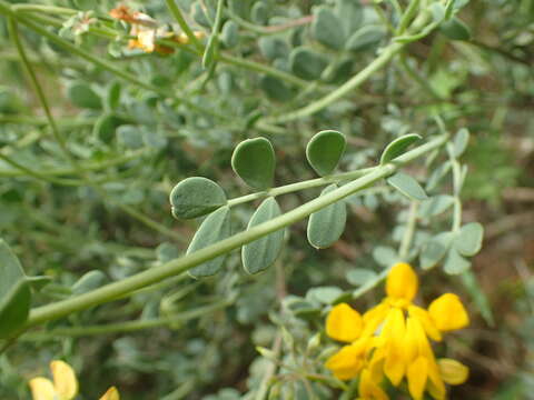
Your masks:
<svg viewBox="0 0 534 400"><path fill-rule="evenodd" d="M337 167L346 144L345 134L333 130L320 131L309 140L306 157L314 170L324 177Z"/></svg>

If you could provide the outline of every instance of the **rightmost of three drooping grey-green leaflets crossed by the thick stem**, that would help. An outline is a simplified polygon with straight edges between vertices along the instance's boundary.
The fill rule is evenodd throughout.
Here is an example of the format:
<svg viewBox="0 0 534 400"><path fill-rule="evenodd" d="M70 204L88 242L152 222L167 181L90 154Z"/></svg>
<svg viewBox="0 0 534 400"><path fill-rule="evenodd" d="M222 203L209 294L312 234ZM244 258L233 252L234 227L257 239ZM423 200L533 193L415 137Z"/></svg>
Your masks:
<svg viewBox="0 0 534 400"><path fill-rule="evenodd" d="M337 184L326 187L320 196L337 189ZM347 208L344 201L338 201L314 212L308 220L308 241L317 249L325 249L334 244L343 231L347 221Z"/></svg>

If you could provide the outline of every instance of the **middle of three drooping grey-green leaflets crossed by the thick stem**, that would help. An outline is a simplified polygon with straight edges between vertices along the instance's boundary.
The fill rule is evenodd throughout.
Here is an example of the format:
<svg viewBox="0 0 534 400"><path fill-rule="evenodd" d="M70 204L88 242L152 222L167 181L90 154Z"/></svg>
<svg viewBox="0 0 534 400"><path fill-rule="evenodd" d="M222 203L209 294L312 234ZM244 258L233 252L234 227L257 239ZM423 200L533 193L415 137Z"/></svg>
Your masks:
<svg viewBox="0 0 534 400"><path fill-rule="evenodd" d="M265 199L248 222L247 230L281 214L275 198ZM248 273L269 268L278 258L284 244L284 229L255 240L241 248L243 267Z"/></svg>

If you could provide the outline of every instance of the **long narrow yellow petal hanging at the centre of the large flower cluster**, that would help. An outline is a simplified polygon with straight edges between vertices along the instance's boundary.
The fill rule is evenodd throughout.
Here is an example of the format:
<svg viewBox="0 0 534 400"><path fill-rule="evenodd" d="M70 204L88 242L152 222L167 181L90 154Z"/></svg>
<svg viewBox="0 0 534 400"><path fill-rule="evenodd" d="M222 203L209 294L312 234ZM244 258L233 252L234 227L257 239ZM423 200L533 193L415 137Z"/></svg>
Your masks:
<svg viewBox="0 0 534 400"><path fill-rule="evenodd" d="M398 386L406 371L406 360L404 351L404 337L406 326L403 311L392 309L384 322L383 336L386 340L386 361L384 363L384 373L394 386Z"/></svg>

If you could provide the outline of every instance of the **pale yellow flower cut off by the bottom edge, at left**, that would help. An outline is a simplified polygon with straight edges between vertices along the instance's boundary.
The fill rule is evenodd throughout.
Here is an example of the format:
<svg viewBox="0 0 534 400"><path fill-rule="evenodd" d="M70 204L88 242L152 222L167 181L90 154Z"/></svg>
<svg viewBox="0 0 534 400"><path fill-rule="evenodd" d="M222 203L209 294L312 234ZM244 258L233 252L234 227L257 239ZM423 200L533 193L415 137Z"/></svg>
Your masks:
<svg viewBox="0 0 534 400"><path fill-rule="evenodd" d="M65 361L50 362L51 381L48 378L33 378L29 381L33 400L72 400L78 394L78 379L72 368ZM116 387L108 389L100 400L120 400Z"/></svg>

